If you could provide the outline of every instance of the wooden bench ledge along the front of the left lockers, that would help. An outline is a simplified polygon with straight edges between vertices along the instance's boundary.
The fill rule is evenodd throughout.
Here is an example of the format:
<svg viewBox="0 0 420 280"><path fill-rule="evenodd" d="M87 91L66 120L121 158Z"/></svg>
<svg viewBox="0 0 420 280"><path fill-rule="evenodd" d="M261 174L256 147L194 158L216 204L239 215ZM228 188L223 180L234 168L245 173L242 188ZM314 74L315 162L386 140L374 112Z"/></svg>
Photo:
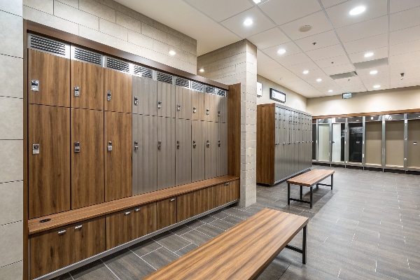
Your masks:
<svg viewBox="0 0 420 280"><path fill-rule="evenodd" d="M83 207L75 210L64 211L58 214L43 216L41 218L34 218L29 220L28 223L29 235L33 235L36 232L43 232L45 230L51 230L53 228L62 227L64 225L70 225L72 223L78 223L80 221L97 218L99 216L105 216L118 211L123 211L124 209L138 207L142 204L148 204L151 202L157 202L159 200L165 200L169 197L183 195L185 193L190 193L195 190L216 186L221 183L227 183L238 179L238 177L225 175L213 179L198 181L195 183L188 183L183 186L167 188L165 190L158 190L151 193L145 193L143 195L136 195L134 197L125 197L120 200L104 202L101 204L92 205L90 207ZM46 223L40 223L41 220L48 218L50 218L51 221L48 221Z"/></svg>

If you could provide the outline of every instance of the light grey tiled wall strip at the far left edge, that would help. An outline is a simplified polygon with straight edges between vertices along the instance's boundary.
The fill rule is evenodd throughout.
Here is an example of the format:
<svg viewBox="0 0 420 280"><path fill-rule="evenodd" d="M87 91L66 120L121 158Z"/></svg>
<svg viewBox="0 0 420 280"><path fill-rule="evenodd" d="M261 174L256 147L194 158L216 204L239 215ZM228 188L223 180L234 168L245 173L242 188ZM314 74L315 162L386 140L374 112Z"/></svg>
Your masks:
<svg viewBox="0 0 420 280"><path fill-rule="evenodd" d="M0 279L22 279L22 0L0 0Z"/></svg>

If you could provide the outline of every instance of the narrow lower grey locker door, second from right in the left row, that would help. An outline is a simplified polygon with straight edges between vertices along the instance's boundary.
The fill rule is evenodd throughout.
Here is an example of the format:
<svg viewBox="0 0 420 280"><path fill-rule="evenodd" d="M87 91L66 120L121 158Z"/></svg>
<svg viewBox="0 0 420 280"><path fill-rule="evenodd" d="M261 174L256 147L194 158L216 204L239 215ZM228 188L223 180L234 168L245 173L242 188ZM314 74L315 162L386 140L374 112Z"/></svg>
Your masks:
<svg viewBox="0 0 420 280"><path fill-rule="evenodd" d="M204 148L205 158L205 179L211 179L217 176L217 146L218 146L218 124L213 122L204 122Z"/></svg>

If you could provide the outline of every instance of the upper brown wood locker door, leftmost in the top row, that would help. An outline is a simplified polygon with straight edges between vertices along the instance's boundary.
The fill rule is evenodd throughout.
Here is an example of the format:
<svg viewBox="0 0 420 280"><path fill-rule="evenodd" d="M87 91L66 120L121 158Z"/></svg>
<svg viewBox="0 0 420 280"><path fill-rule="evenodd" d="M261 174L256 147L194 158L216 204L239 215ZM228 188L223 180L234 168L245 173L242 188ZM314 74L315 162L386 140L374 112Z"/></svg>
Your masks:
<svg viewBox="0 0 420 280"><path fill-rule="evenodd" d="M38 83L38 90L32 85ZM29 50L29 104L70 106L70 59Z"/></svg>

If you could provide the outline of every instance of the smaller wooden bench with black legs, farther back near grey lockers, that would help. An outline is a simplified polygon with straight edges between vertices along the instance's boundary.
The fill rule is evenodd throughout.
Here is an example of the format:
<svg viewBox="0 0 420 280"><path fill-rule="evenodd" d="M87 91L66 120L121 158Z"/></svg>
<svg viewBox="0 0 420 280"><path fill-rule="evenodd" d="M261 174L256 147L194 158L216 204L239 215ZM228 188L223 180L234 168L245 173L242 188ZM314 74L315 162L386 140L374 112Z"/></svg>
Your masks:
<svg viewBox="0 0 420 280"><path fill-rule="evenodd" d="M323 183L319 183L323 181L325 178L331 176L331 185L326 185ZM295 176L292 179L288 179L287 181L287 204L290 204L290 200L297 201L297 202L304 202L309 203L312 208L312 187L316 184L316 188L319 185L321 186L328 186L331 187L332 190L332 183L333 183L334 171L333 170L325 170L325 169L312 169L309 172L304 174L300 174L299 176ZM290 184L300 186L300 200L296 200L295 198L290 198ZM310 201L302 200L302 186L309 187L310 190Z"/></svg>

